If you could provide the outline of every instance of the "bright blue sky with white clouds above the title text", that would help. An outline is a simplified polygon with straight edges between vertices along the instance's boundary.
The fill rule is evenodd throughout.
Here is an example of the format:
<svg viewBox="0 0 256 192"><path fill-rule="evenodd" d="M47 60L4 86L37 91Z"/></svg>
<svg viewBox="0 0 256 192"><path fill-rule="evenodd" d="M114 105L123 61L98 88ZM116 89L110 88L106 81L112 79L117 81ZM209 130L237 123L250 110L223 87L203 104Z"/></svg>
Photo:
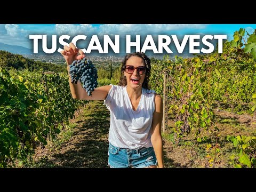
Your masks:
<svg viewBox="0 0 256 192"><path fill-rule="evenodd" d="M239 28L249 34L256 24L0 24L0 43L32 49L29 35L227 35L228 40ZM0 47L1 48L1 47ZM61 47L62 48L62 47Z"/></svg>

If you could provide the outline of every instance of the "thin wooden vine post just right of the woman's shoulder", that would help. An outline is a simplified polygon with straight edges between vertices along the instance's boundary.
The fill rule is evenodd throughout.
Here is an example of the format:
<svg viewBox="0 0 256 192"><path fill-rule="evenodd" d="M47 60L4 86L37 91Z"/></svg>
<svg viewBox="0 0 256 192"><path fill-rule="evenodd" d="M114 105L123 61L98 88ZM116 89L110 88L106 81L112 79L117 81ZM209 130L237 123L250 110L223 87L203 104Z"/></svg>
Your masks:
<svg viewBox="0 0 256 192"><path fill-rule="evenodd" d="M166 79L168 77L168 74L164 73L164 107L163 107L163 132L167 131L168 128L168 100L167 100L167 93L168 93L168 87L166 86Z"/></svg>

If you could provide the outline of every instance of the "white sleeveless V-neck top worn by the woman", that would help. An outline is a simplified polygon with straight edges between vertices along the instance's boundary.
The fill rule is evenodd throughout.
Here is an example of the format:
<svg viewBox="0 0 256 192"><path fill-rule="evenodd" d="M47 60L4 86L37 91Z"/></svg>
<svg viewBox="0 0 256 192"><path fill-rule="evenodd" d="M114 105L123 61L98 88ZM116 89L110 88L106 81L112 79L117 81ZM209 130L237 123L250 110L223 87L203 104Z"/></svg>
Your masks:
<svg viewBox="0 0 256 192"><path fill-rule="evenodd" d="M111 86L104 100L104 105L110 111L108 141L116 147L126 149L152 147L151 126L156 92L142 88L138 108L134 111L126 91L127 86Z"/></svg>

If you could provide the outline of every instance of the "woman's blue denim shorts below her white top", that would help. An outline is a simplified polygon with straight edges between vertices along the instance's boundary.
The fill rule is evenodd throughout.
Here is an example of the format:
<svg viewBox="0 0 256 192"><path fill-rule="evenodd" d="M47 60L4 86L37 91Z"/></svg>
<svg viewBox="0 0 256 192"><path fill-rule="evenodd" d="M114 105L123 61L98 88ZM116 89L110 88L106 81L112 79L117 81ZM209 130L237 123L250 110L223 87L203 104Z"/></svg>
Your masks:
<svg viewBox="0 0 256 192"><path fill-rule="evenodd" d="M108 165L110 168L143 168L157 165L153 147L141 149L124 149L109 143Z"/></svg>

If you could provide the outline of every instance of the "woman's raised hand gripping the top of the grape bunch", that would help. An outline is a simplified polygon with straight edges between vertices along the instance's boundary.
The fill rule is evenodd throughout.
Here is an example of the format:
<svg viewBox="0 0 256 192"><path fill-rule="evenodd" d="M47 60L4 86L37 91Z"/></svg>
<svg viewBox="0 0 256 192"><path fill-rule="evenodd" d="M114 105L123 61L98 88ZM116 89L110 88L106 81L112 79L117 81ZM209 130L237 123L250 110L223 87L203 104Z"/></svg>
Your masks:
<svg viewBox="0 0 256 192"><path fill-rule="evenodd" d="M64 50L60 53L65 58L67 65L71 65L74 60L83 59L85 57L84 52L78 49L74 43L69 43L69 46L65 45ZM79 55L77 55L79 53Z"/></svg>

